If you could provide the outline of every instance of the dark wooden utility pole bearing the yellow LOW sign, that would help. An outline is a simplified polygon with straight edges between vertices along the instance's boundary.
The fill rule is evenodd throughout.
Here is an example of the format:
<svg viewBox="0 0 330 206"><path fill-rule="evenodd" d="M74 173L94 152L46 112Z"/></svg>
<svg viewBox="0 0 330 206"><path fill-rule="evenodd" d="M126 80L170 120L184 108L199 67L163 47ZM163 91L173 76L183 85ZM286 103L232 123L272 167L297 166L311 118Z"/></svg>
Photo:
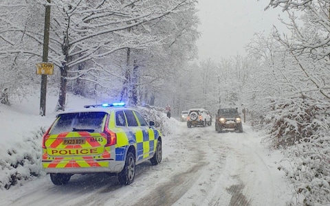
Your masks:
<svg viewBox="0 0 330 206"><path fill-rule="evenodd" d="M48 45L50 42L50 0L45 5L45 30L43 33L43 62L48 61ZM41 75L40 115L46 115L47 75Z"/></svg>

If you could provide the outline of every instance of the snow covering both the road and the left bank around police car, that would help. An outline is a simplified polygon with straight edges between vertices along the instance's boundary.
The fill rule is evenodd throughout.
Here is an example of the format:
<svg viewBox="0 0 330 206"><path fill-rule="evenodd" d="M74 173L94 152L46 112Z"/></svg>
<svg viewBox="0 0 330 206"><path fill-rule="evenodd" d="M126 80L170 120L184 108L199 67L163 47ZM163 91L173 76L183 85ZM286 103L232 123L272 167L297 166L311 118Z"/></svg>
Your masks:
<svg viewBox="0 0 330 206"><path fill-rule="evenodd" d="M39 115L36 97L12 102L10 107L0 104L0 183L10 172L8 162L20 154L38 156L41 139L30 137L50 126L56 99L47 97L45 117ZM68 108L94 103L71 97ZM9 190L1 188L0 205L285 205L292 198L292 188L277 169L283 156L265 149L247 124L244 133L218 134L213 125L187 128L185 122L166 115L164 122L171 133L163 138L162 163L137 165L131 185L118 185L115 176L87 174L58 186L43 174ZM26 146L27 139L34 144ZM8 155L12 148L16 156ZM22 173L31 169L28 163L19 167Z"/></svg>

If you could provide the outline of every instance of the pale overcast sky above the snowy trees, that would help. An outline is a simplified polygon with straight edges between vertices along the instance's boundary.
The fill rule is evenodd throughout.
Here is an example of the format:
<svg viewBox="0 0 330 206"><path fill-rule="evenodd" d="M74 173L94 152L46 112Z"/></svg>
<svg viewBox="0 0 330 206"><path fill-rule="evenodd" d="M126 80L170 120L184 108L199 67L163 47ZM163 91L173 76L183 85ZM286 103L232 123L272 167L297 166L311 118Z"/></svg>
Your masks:
<svg viewBox="0 0 330 206"><path fill-rule="evenodd" d="M199 0L199 32L197 41L199 60L245 55L244 46L253 34L270 33L272 25L284 26L278 21L280 8L264 11L269 0Z"/></svg>

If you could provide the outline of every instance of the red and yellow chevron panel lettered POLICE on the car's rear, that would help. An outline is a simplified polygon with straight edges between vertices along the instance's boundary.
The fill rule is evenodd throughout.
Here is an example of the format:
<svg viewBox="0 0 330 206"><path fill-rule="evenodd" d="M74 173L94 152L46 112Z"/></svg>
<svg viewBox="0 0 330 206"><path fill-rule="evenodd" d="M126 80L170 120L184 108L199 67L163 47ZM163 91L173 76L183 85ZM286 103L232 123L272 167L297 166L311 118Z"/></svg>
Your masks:
<svg viewBox="0 0 330 206"><path fill-rule="evenodd" d="M63 144L65 138L85 138L85 144ZM43 149L43 168L91 168L109 167L110 147L104 133L69 132L47 135Z"/></svg>

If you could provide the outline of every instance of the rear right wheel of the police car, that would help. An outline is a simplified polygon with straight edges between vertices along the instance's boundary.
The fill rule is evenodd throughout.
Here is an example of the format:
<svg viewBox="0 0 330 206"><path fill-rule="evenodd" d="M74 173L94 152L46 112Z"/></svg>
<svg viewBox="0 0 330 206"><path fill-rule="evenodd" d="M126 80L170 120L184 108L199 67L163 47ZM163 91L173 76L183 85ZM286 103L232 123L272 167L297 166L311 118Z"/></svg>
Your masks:
<svg viewBox="0 0 330 206"><path fill-rule="evenodd" d="M130 185L135 176L135 157L132 152L128 152L122 172L118 174L118 181L121 185Z"/></svg>

